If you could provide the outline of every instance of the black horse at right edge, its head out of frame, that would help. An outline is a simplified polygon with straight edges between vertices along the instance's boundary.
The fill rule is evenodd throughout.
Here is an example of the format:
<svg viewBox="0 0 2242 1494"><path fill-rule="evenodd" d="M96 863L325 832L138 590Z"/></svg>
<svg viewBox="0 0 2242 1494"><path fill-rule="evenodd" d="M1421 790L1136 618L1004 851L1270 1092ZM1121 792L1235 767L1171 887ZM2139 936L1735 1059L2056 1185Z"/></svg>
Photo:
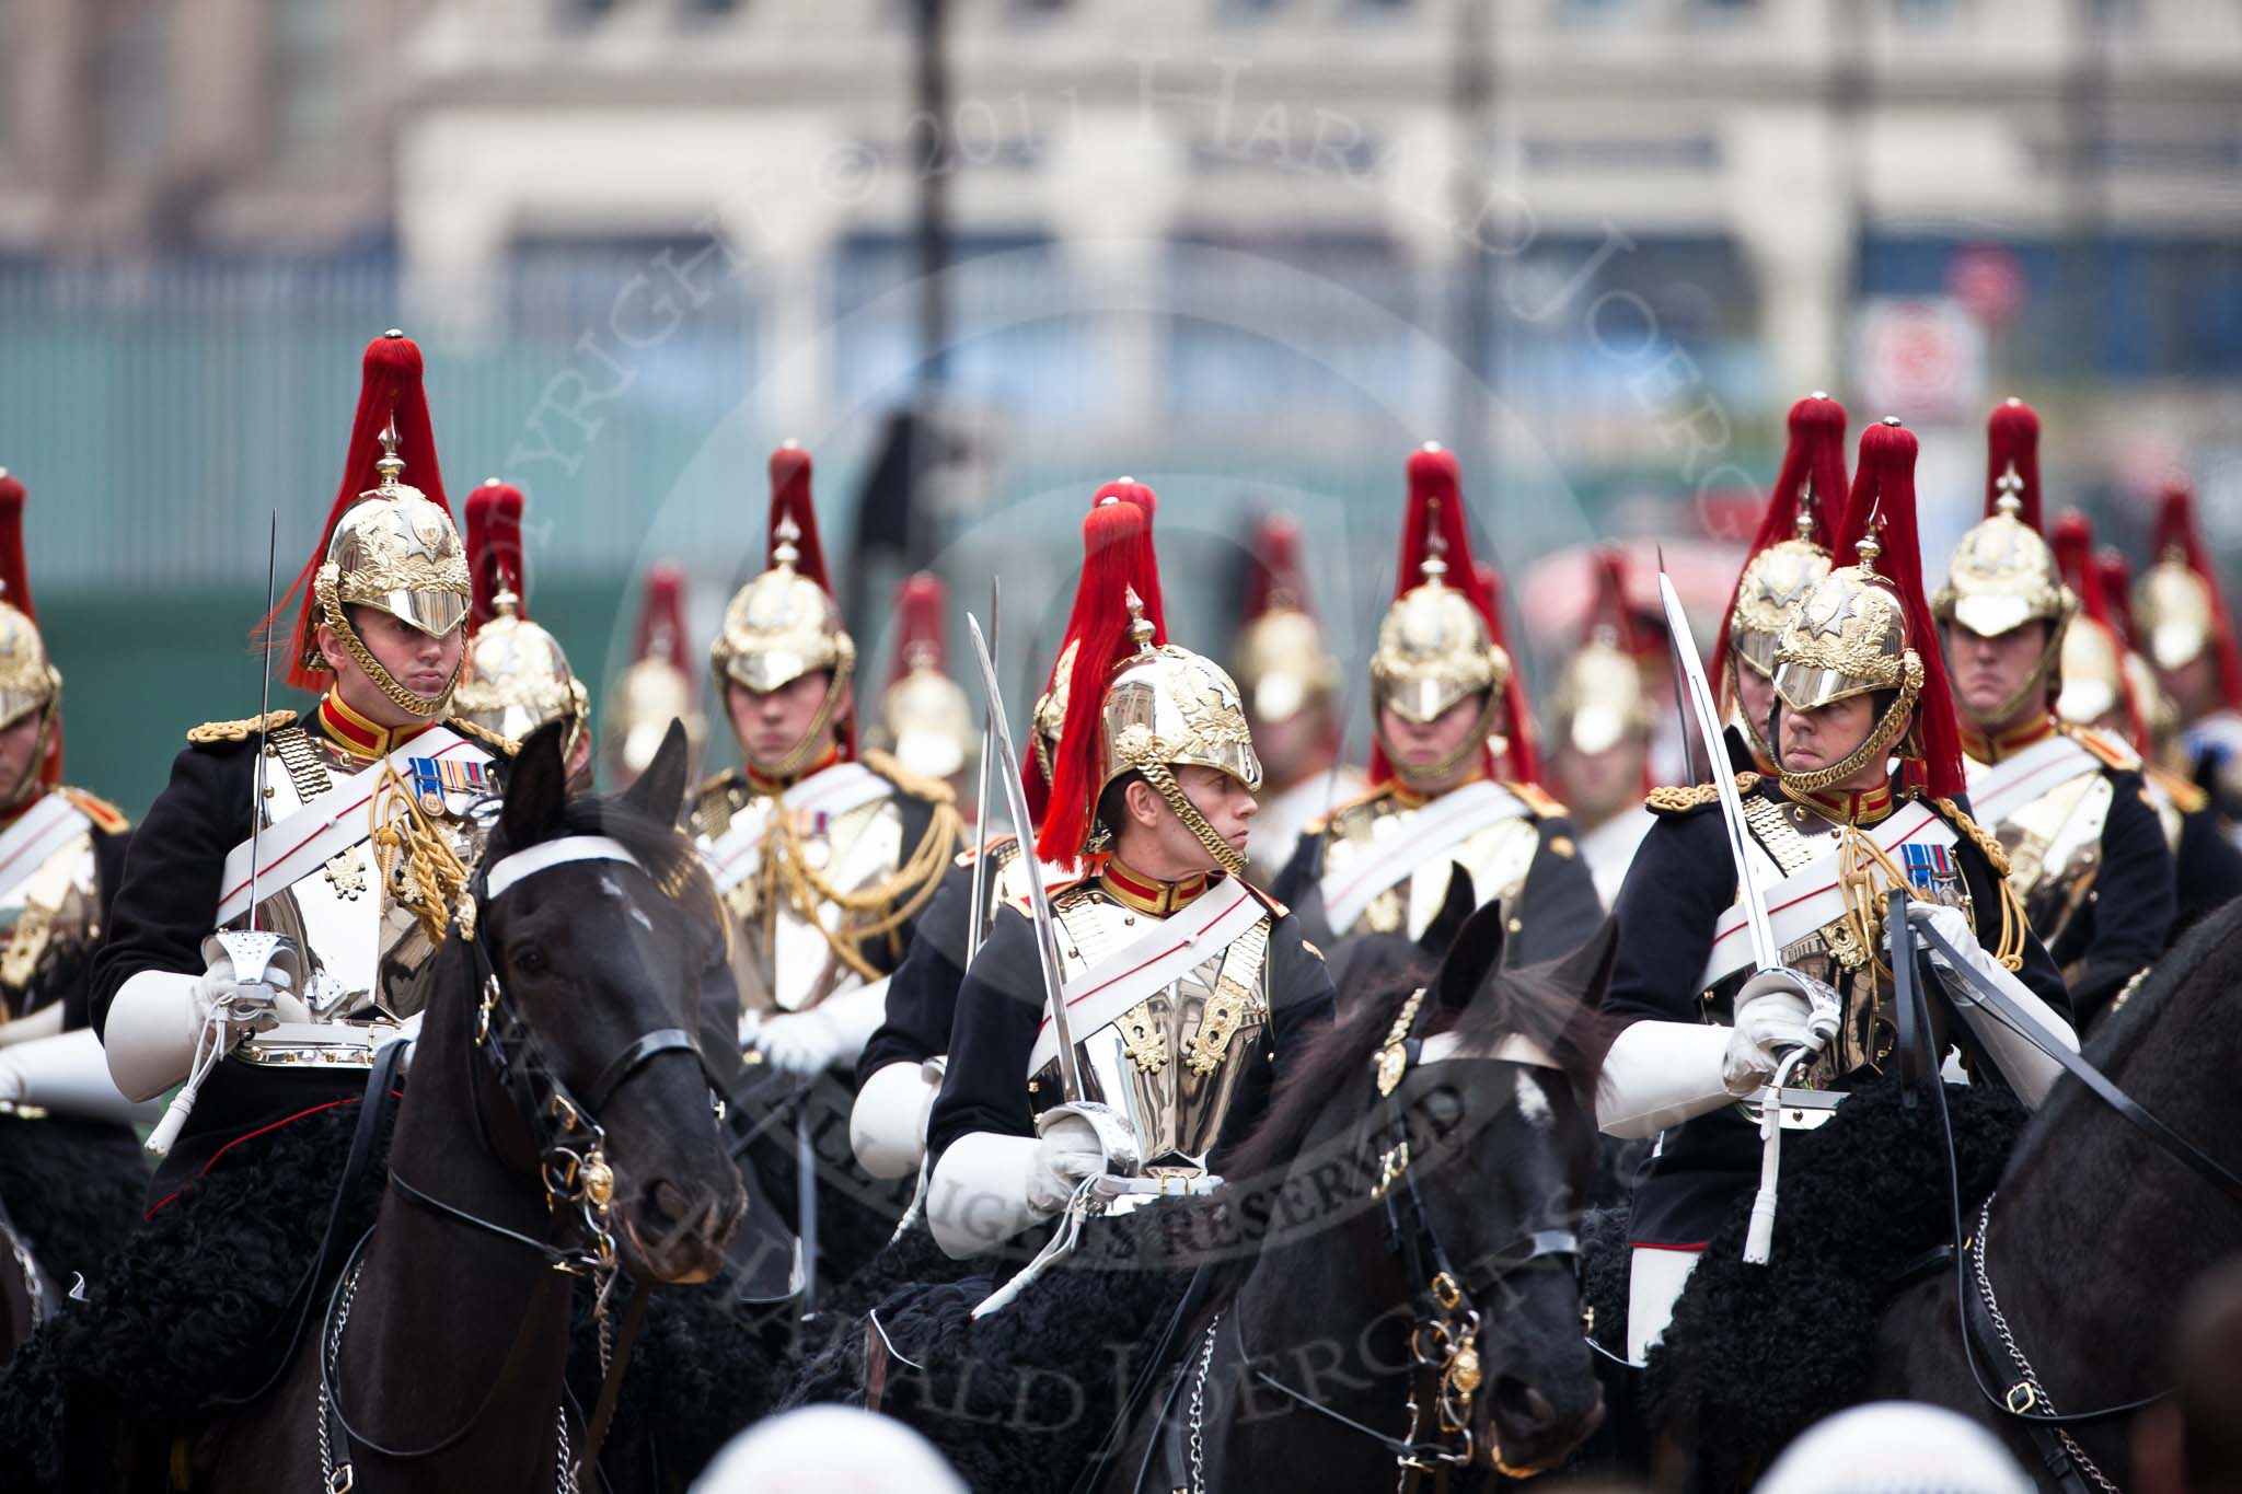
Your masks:
<svg viewBox="0 0 2242 1494"><path fill-rule="evenodd" d="M2229 1010L2238 986L2242 903L2229 903L2103 1021L2085 1053L2141 1109L2229 1171L2242 1171L2233 1091L2242 1024ZM2025 1129L1984 1214L1971 1212L1964 1230L1973 1245L1984 1245L1982 1283L1991 1286L2022 1364L1995 1330L1973 1375L1964 1362L1957 1281L1939 1272L1886 1308L1870 1389L1980 1418L2045 1481L2031 1436L1989 1402L1980 1380L2002 1402L2013 1395L2018 1404L2029 1400L2058 1413L2125 1407L2161 1391L2188 1286L2242 1250L2242 1201L2220 1196L2215 1183L2065 1077ZM1968 1288L1984 1290L1975 1250L1964 1252L1964 1270ZM2121 1487L2132 1476L2130 1420L2105 1416L2067 1429L2078 1451Z"/></svg>

